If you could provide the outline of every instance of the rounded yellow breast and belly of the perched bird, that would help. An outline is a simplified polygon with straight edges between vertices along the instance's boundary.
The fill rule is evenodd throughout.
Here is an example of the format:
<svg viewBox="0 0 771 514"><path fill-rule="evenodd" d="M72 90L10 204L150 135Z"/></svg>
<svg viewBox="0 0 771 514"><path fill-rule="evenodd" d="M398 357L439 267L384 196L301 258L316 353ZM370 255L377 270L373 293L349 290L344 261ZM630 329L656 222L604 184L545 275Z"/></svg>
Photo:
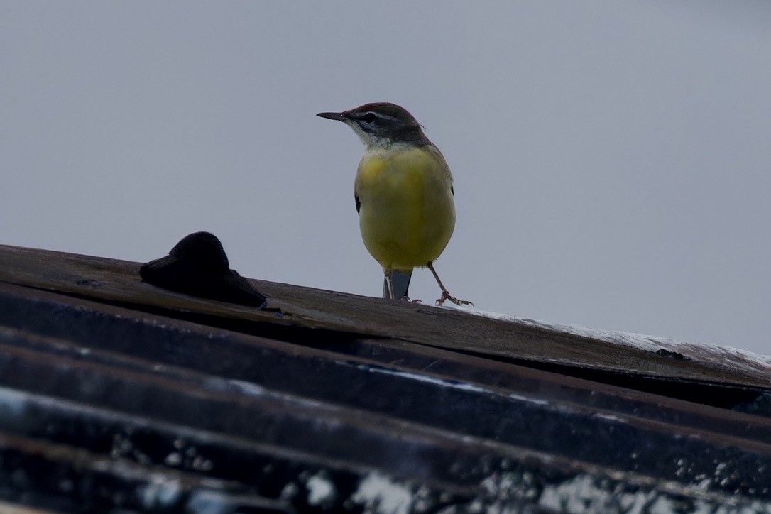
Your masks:
<svg viewBox="0 0 771 514"><path fill-rule="evenodd" d="M356 173L364 244L385 270L439 257L455 228L449 168L433 147L365 153Z"/></svg>

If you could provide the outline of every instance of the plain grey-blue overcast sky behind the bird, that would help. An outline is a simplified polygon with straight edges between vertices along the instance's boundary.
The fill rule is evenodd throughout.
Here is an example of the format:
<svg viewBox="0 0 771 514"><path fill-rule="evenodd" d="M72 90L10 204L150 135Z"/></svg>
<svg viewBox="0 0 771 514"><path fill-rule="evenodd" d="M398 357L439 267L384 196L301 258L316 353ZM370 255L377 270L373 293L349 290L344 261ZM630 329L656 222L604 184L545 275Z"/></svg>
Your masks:
<svg viewBox="0 0 771 514"><path fill-rule="evenodd" d="M395 102L453 170L453 295L771 354L771 2L0 7L0 244L207 230L244 276L379 296L362 144L315 114Z"/></svg>

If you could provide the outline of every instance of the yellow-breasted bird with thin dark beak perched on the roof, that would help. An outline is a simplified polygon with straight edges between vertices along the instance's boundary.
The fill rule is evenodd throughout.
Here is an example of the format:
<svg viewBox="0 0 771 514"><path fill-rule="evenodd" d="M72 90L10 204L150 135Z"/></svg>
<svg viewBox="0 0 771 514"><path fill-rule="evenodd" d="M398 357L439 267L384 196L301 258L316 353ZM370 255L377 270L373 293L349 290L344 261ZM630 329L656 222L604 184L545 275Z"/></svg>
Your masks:
<svg viewBox="0 0 771 514"><path fill-rule="evenodd" d="M409 299L412 270L427 267L442 290L437 305L472 304L449 294L433 266L455 229L455 191L453 174L423 126L389 102L316 116L345 123L364 143L354 199L364 245L383 269L383 297Z"/></svg>

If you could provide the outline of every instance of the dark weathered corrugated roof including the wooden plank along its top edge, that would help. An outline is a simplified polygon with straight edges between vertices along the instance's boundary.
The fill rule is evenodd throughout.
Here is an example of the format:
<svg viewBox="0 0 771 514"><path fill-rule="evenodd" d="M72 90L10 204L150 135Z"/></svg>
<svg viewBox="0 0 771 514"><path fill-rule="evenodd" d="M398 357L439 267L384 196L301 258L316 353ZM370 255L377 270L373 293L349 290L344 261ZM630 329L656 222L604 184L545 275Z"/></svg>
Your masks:
<svg viewBox="0 0 771 514"><path fill-rule="evenodd" d="M6 504L771 512L769 374L740 355L252 281L260 311L138 268L0 247Z"/></svg>

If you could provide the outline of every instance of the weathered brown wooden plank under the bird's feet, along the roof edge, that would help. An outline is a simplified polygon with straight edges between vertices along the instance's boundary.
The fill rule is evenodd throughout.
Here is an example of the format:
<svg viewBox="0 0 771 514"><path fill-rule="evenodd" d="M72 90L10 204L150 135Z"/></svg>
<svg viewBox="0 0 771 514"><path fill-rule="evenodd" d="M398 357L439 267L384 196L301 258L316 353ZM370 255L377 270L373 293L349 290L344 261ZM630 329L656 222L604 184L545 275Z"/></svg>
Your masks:
<svg viewBox="0 0 771 514"><path fill-rule="evenodd" d="M0 281L140 310L397 338L533 365L771 387L771 368L741 354L705 348L699 358L668 358L642 348L466 311L251 280L268 297L268 307L280 310L278 314L162 290L144 283L139 267L125 260L0 246Z"/></svg>

